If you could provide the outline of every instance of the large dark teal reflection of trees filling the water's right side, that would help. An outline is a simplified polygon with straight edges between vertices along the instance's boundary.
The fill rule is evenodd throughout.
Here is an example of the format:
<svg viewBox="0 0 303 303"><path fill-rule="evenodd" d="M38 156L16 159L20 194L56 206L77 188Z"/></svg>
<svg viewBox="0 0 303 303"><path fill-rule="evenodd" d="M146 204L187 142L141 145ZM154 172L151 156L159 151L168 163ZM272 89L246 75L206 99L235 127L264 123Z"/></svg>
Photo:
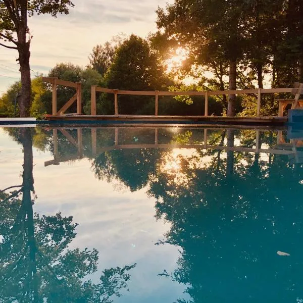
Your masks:
<svg viewBox="0 0 303 303"><path fill-rule="evenodd" d="M163 243L182 248L178 268L163 275L187 285L190 302L296 302L303 282L302 168L293 170L283 156L270 163L226 156L217 165L213 155L204 167L195 165L196 155L180 156L177 184L176 174L157 170L149 193L157 198L157 218L172 224Z"/></svg>

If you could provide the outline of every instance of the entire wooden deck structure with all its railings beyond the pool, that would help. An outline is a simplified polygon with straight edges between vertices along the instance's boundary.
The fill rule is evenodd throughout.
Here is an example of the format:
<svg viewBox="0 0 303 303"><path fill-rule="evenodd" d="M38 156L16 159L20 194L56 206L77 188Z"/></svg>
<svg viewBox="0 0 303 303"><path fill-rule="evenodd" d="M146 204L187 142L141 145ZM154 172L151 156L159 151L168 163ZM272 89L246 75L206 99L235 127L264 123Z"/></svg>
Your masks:
<svg viewBox="0 0 303 303"><path fill-rule="evenodd" d="M273 117L261 117L261 100L263 93L293 93L295 94L294 99L277 99L279 102L279 117L283 117L283 110L286 108L287 104L291 103L293 106L303 105L303 100L299 100L299 95L302 92L303 84L302 83L295 83L294 88L258 88L258 89L241 89L241 90L219 90L219 91L137 91L137 90L119 90L119 89L110 89L104 87L98 87L96 85L91 86L91 113L90 115L81 117L81 83L73 83L69 81L59 80L58 78L46 78L42 77L42 81L51 83L53 85L53 114L52 116L47 115L46 118L48 120L71 120L68 116L65 116L64 113L66 110L77 100L77 115L73 116L73 120L111 120L112 117L116 120L131 120L133 121L135 118L138 118L140 121L156 121L157 119L163 121L164 119L175 119L178 121L187 121L192 119L202 119L202 116L162 116L159 115L158 105L159 105L159 97L160 96L177 96L177 95L188 95L188 96L204 96L205 98L205 114L204 117L210 117L210 119L203 119L201 121L214 121L220 120L221 122L226 118L233 118L233 117L215 117L209 116L209 96L215 95L231 95L231 94L254 94L257 97L257 117L259 119L256 120L249 120L246 122L264 122L268 123L269 120L265 118L272 119ZM57 85L64 85L68 87L73 87L76 89L76 93L72 98L68 100L68 102L59 110L57 111ZM297 86L297 87L296 87ZM96 94L98 92L102 93L111 93L114 95L114 105L115 105L115 114L112 116L99 116L96 114ZM118 108L118 96L119 95L147 95L147 96L154 96L155 97L155 115L146 115L146 116L139 116L139 115L119 115L119 108ZM220 119L222 118L222 119ZM236 117L233 118L238 121L242 121L243 119L252 118L252 117ZM254 117L256 118L256 117ZM156 119L156 120L155 120ZM139 121L138 120L138 121ZM278 124L282 120L275 120L272 119ZM173 121L173 120L172 120ZM245 121L244 121L245 122ZM273 122L273 121L271 121ZM286 121L283 121L286 122Z"/></svg>

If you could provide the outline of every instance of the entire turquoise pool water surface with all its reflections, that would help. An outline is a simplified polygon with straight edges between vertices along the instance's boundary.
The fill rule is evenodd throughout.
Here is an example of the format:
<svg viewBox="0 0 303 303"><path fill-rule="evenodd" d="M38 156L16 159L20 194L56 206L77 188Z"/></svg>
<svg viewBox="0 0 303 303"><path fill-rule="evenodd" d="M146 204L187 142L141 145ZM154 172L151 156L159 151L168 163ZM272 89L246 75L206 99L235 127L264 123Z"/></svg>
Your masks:
<svg viewBox="0 0 303 303"><path fill-rule="evenodd" d="M303 302L290 137L0 128L0 302Z"/></svg>

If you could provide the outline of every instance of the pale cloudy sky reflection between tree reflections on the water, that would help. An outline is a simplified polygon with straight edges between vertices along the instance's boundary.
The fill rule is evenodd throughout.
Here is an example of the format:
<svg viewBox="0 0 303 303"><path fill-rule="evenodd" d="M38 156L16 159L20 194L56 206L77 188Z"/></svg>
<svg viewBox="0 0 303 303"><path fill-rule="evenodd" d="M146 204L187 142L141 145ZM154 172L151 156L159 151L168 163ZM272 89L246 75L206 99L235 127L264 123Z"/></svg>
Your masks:
<svg viewBox="0 0 303 303"><path fill-rule="evenodd" d="M147 197L146 188L135 193L125 188L115 191L114 184L94 177L87 159L44 167L44 161L53 156L35 148L33 159L38 196L34 211L41 215L62 212L79 223L70 248L95 247L99 251L99 270L91 276L93 280L105 268L137 263L130 271L130 291L122 291L117 301L173 302L184 297L184 285L157 276L164 269L175 269L179 252L171 245L155 245L170 225L156 221L155 200ZM22 163L22 145L0 128L1 188L22 183Z"/></svg>

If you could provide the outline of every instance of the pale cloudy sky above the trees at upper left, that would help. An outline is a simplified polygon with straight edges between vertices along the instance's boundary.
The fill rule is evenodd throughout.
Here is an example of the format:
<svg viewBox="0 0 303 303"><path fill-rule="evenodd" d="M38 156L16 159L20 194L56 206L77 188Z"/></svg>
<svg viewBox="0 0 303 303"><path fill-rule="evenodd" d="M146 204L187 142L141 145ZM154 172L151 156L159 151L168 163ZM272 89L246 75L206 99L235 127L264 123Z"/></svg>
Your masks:
<svg viewBox="0 0 303 303"><path fill-rule="evenodd" d="M156 30L158 6L173 0L73 0L69 15L34 16L29 19L32 75L47 74L56 63L85 67L93 46L119 33L146 37ZM0 46L0 95L19 79L18 53Z"/></svg>

